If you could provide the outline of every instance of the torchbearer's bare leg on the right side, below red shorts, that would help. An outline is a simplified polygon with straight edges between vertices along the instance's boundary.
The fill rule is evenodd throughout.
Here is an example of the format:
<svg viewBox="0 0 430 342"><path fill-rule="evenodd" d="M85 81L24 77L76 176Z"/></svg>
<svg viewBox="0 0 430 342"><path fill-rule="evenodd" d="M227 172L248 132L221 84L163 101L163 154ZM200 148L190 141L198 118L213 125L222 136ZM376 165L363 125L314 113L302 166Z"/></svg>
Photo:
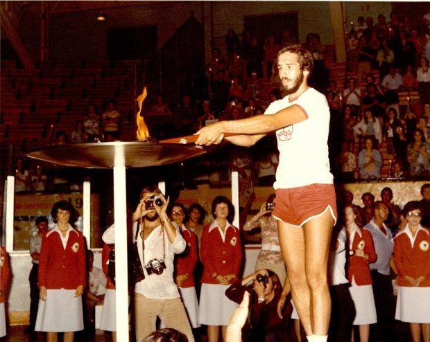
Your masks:
<svg viewBox="0 0 430 342"><path fill-rule="evenodd" d="M311 291L311 325L314 335L329 332L330 300L327 260L334 219L330 210L304 224L306 276Z"/></svg>

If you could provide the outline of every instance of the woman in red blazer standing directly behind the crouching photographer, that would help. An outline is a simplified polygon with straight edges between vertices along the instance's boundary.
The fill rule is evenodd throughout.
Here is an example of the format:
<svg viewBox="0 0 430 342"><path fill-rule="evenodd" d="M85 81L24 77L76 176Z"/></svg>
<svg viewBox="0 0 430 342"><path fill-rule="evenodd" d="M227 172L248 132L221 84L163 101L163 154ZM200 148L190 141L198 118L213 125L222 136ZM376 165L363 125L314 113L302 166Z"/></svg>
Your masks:
<svg viewBox="0 0 430 342"><path fill-rule="evenodd" d="M219 327L225 341L230 316L238 306L225 296L225 290L239 279L242 245L239 229L230 224L234 207L227 197L215 197L212 215L215 220L203 228L200 245L204 269L198 320L207 325L209 342L218 342Z"/></svg>

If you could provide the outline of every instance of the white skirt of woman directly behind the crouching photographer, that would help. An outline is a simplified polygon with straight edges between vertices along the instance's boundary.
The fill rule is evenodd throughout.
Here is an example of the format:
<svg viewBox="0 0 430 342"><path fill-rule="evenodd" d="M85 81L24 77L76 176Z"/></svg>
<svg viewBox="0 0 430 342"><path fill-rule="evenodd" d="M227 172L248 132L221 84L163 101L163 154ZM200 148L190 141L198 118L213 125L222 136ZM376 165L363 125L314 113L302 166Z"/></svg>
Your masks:
<svg viewBox="0 0 430 342"><path fill-rule="evenodd" d="M205 325L228 325L238 303L225 296L230 285L202 284L198 323Z"/></svg>

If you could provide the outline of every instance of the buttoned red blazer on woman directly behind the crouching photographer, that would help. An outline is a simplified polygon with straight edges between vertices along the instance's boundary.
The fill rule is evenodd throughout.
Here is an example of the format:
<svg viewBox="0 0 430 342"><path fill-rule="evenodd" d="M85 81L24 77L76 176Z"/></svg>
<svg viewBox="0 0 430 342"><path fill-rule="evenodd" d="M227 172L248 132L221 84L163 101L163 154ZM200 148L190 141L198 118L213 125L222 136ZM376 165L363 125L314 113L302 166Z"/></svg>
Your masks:
<svg viewBox="0 0 430 342"><path fill-rule="evenodd" d="M219 284L212 275L221 276L234 273L239 278L242 264L242 243L239 229L228 224L225 228L225 241L218 231L216 220L203 228L200 242L200 258L203 262L203 276L201 282L206 284ZM230 281L234 283L234 279Z"/></svg>

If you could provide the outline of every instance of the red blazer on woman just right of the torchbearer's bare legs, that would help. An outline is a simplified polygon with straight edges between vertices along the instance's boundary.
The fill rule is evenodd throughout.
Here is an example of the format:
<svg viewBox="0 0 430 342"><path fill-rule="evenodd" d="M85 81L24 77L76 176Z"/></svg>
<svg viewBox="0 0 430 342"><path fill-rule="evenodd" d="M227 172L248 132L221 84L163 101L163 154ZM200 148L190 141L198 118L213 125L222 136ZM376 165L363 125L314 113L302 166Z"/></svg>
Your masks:
<svg viewBox="0 0 430 342"><path fill-rule="evenodd" d="M350 247L350 251L356 249L363 249L364 253L369 256L366 261L356 255L350 255L348 258L348 280L352 282L352 277L356 285L370 285L372 284L372 276L370 276L369 265L377 260L375 246L373 246L372 234L363 228L358 228L354 234L354 241Z"/></svg>

